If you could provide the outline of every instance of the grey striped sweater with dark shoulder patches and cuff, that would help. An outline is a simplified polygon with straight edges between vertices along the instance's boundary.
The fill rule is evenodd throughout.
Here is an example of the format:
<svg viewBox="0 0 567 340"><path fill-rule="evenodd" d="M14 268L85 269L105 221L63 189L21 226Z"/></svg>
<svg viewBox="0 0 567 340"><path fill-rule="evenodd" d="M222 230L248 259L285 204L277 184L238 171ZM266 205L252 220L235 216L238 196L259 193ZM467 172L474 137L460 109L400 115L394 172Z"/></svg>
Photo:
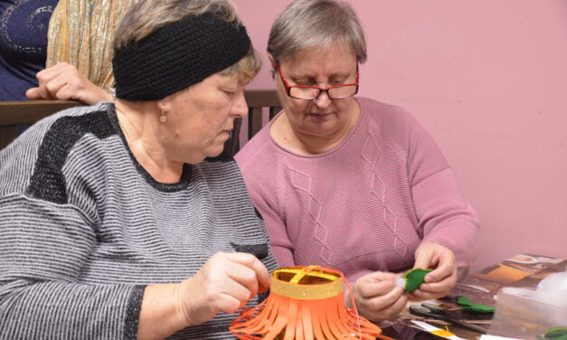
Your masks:
<svg viewBox="0 0 567 340"><path fill-rule="evenodd" d="M45 118L0 152L0 339L136 338L146 285L182 281L235 250L276 268L232 158L157 183L110 103ZM233 338L234 317L172 338Z"/></svg>

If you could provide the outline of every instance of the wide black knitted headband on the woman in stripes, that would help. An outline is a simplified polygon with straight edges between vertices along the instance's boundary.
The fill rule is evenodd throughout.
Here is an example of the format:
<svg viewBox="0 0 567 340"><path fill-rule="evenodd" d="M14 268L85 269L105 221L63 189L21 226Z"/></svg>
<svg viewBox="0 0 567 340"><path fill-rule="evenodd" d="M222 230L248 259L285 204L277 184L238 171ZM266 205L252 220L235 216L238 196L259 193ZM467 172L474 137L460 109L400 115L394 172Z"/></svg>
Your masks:
<svg viewBox="0 0 567 340"><path fill-rule="evenodd" d="M116 97L163 99L240 61L250 50L241 24L189 15L115 53Z"/></svg>

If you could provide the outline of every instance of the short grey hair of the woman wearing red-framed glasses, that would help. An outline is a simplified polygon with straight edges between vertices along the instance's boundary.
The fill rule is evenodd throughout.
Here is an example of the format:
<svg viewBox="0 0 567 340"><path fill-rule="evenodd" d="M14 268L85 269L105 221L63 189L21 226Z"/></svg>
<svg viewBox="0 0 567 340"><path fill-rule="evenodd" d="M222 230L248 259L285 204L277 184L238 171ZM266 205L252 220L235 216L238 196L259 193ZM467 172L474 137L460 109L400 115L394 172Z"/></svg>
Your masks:
<svg viewBox="0 0 567 340"><path fill-rule="evenodd" d="M275 61L282 61L309 48L328 48L333 42L348 44L356 61L366 61L363 28L350 5L337 0L296 0L271 26L268 52Z"/></svg>

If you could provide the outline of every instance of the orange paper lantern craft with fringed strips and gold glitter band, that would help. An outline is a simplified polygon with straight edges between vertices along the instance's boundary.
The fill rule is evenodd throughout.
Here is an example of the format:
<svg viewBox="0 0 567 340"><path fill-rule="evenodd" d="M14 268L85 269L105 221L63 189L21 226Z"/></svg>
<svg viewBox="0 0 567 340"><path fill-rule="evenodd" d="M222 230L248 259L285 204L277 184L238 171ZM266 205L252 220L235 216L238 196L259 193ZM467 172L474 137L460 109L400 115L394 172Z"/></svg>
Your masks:
<svg viewBox="0 0 567 340"><path fill-rule="evenodd" d="M350 290L343 273L335 269L276 269L269 297L243 310L230 330L239 339L375 339L381 329L358 316L356 307L345 307L345 284Z"/></svg>

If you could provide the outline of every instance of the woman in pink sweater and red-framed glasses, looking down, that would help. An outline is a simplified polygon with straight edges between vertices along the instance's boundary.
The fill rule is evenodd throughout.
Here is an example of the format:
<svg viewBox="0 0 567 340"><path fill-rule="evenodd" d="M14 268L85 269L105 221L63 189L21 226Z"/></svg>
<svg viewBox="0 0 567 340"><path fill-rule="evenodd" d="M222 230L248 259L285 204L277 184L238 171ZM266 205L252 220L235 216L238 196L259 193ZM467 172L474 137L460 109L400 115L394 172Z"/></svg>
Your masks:
<svg viewBox="0 0 567 340"><path fill-rule="evenodd" d="M280 266L340 269L362 315L397 316L443 297L475 256L477 214L445 157L408 112L354 97L366 59L354 11L297 0L271 28L283 111L236 156ZM413 293L399 273L434 269Z"/></svg>

